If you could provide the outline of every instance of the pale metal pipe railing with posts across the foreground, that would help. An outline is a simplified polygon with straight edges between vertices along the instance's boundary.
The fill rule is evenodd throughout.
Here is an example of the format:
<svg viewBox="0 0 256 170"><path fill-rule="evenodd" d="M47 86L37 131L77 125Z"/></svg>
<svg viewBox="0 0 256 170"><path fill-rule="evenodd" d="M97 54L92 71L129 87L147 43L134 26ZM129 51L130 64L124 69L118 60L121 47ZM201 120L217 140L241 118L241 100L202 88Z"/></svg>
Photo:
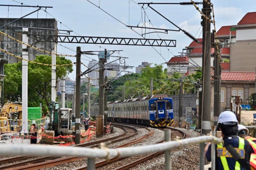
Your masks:
<svg viewBox="0 0 256 170"><path fill-rule="evenodd" d="M130 157L155 152L165 151L165 169L171 169L171 150L179 149L183 146L200 144L200 170L204 169L204 145L205 142L211 142L211 161L212 170L215 169L215 144L221 143L220 138L216 138L213 135L204 135L194 138L186 138L181 140L170 141L171 130L165 130L165 142L136 147L124 147L124 148L107 148L104 144L101 144L101 148L86 148L86 147L64 147L64 146L49 146L49 145L9 145L6 144L1 147L0 155L30 155L30 156L78 156L87 157L87 169L95 169L95 159L109 160L112 157Z"/></svg>

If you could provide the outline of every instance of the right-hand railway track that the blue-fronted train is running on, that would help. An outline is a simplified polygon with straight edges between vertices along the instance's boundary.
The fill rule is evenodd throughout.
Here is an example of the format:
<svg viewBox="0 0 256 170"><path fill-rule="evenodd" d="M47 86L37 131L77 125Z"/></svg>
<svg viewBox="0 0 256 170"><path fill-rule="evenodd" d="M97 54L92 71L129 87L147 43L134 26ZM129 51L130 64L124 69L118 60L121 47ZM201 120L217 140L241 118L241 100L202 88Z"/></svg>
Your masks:
<svg viewBox="0 0 256 170"><path fill-rule="evenodd" d="M181 130L177 130L177 129L174 129L174 128L171 128L171 127L167 127L167 128L172 129L172 130L173 130L172 133L175 133L175 135L176 135L176 133L181 134L180 137L181 137L182 139L184 139L184 138L186 137L186 134L185 134L183 131L181 131ZM158 129L164 130L164 129L162 129L162 128L158 128ZM172 135L172 139L176 138L175 135ZM161 140L161 141L159 141L159 142L157 142L157 143L161 143L161 142L163 142L163 141L164 141L164 140ZM140 159L138 159L138 160L136 160L136 161L132 161L132 162L130 162L130 163L128 163L128 164L125 164L125 165L123 165L123 166L120 166L120 167L118 167L118 168L115 168L115 170L118 170L118 169L127 169L127 168L130 168L130 167L133 167L133 166L135 166L135 165L137 165L137 164L140 164L140 163L142 163L142 162L144 162L144 161L147 161L147 160L149 160L149 159L152 159L153 157L158 156L158 155L160 155L160 154L162 154L162 153L163 153L163 152L155 152L155 153L153 153L153 154L144 156L144 157L142 157L142 158L140 158ZM113 157L113 158L111 158L111 159L109 159L109 160L104 160L104 161L100 161L100 162L95 163L95 167L96 167L96 168L101 167L101 169L104 169L104 168L102 168L103 166L108 165L108 164L111 164L111 163L114 163L114 162L117 162L117 161L121 161L121 160L124 160L124 159L127 159L127 157L124 157L124 158ZM87 165L85 165L84 167L80 167L80 168L73 169L73 170L86 170L86 169L87 169ZM107 168L106 168L106 169L107 169Z"/></svg>

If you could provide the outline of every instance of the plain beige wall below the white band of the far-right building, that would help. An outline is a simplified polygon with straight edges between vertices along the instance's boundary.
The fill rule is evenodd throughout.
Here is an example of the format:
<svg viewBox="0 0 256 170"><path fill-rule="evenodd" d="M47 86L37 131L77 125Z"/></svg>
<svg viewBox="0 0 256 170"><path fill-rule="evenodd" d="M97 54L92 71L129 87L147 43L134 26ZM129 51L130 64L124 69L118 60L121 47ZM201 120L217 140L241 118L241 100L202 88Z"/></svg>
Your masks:
<svg viewBox="0 0 256 170"><path fill-rule="evenodd" d="M254 35L256 36L256 34ZM255 38L256 39L256 38ZM255 72L256 40L230 45L230 71Z"/></svg>

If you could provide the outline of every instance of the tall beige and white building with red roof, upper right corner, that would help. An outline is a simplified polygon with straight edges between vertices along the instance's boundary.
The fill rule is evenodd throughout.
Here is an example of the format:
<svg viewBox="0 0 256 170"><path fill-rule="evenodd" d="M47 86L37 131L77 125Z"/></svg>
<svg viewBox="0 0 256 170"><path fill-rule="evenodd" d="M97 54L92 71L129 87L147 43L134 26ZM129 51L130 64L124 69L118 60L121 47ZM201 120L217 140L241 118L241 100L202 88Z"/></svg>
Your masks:
<svg viewBox="0 0 256 170"><path fill-rule="evenodd" d="M256 12L247 13L237 25L236 40L230 44L230 71L255 72Z"/></svg>

